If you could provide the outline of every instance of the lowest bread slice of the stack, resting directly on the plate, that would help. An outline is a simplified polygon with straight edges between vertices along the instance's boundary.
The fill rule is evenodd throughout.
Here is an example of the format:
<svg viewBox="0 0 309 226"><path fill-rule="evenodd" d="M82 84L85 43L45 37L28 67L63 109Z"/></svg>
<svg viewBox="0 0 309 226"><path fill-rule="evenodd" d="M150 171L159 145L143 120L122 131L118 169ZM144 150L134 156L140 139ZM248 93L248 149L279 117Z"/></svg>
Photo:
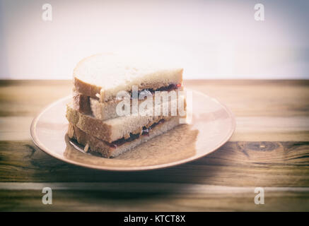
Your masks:
<svg viewBox="0 0 309 226"><path fill-rule="evenodd" d="M86 151L101 153L103 157L117 157L118 155L135 148L137 145L144 143L151 138L154 138L166 131L173 129L179 123L179 117L172 117L168 121L164 121L161 124L156 125L153 129L148 131L147 135L140 135L133 141L125 141L121 145L111 145L106 141L100 140L95 136L85 133L81 129L78 129L74 124L69 124L68 136L74 138L79 144L84 145Z"/></svg>

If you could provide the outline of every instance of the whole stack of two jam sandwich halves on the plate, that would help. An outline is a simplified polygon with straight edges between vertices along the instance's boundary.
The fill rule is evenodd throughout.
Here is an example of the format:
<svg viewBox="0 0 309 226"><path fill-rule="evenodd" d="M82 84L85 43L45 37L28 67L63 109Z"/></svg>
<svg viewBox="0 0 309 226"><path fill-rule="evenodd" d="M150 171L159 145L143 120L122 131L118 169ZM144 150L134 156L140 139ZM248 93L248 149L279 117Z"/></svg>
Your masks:
<svg viewBox="0 0 309 226"><path fill-rule="evenodd" d="M74 69L73 100L66 109L68 136L85 151L116 157L180 124L180 90L182 69L113 54L83 59Z"/></svg>

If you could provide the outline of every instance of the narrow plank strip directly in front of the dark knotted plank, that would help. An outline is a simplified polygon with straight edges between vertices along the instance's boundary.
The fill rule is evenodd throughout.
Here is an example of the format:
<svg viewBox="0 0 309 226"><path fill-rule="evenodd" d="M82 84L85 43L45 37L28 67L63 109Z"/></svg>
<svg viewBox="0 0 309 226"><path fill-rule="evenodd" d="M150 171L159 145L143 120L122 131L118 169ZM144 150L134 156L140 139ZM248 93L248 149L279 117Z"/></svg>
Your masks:
<svg viewBox="0 0 309 226"><path fill-rule="evenodd" d="M209 184L153 183L153 182L0 182L0 190L52 190L117 191L132 193L177 193L177 194L243 194L255 193L251 186L218 186ZM264 192L309 192L309 187L263 187Z"/></svg>

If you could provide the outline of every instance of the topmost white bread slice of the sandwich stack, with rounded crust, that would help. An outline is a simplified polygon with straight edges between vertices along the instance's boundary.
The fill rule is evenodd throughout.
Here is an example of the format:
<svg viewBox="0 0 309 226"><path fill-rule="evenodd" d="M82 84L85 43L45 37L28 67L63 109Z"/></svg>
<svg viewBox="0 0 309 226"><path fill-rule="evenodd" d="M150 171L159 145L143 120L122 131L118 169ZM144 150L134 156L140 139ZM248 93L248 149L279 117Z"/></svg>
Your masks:
<svg viewBox="0 0 309 226"><path fill-rule="evenodd" d="M99 98L100 102L115 99L119 91L166 87L182 83L183 69L165 66L164 62L148 64L146 59L97 54L80 61L74 69L74 86L78 93Z"/></svg>

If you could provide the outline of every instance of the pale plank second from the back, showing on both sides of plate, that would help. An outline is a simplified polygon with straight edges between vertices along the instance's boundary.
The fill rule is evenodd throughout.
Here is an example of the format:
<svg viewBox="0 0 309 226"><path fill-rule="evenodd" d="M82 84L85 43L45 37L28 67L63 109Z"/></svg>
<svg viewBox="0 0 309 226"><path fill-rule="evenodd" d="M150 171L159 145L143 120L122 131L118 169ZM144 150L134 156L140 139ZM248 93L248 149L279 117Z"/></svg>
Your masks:
<svg viewBox="0 0 309 226"><path fill-rule="evenodd" d="M30 139L33 117L0 117L0 141ZM237 117L230 141L308 141L309 117Z"/></svg>

